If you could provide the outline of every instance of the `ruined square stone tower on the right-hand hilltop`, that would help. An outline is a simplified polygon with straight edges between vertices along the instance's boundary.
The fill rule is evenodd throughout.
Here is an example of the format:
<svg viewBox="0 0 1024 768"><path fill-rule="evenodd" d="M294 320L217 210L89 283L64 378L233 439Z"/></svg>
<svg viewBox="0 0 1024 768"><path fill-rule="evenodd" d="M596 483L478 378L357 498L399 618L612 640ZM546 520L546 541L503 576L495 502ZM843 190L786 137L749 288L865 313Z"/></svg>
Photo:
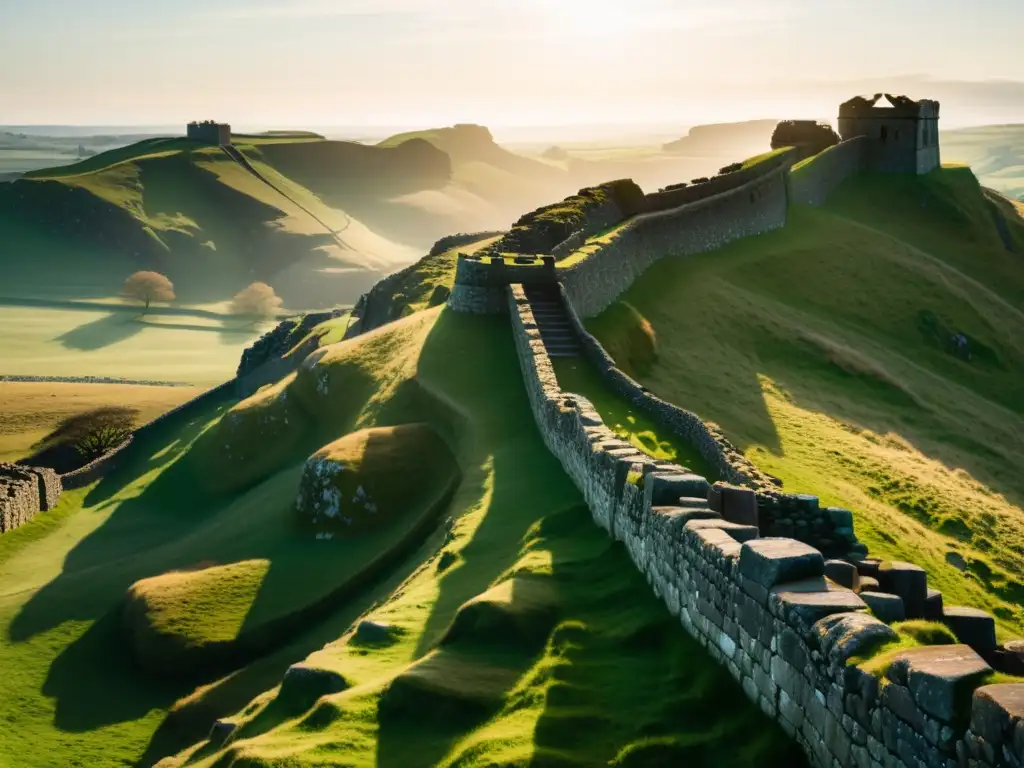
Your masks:
<svg viewBox="0 0 1024 768"><path fill-rule="evenodd" d="M843 140L871 139L867 170L920 175L939 167L938 101L855 96L839 108L839 133Z"/></svg>

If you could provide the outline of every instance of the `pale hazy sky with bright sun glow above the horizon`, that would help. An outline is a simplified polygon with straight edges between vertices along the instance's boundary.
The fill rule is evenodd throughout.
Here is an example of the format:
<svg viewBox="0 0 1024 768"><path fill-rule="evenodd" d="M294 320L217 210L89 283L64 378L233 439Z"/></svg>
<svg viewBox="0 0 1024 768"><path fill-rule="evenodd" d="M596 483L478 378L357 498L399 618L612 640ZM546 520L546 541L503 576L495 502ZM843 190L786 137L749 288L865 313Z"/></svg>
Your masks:
<svg viewBox="0 0 1024 768"><path fill-rule="evenodd" d="M1024 121L1022 32L1024 0L0 0L0 124L829 117L888 82Z"/></svg>

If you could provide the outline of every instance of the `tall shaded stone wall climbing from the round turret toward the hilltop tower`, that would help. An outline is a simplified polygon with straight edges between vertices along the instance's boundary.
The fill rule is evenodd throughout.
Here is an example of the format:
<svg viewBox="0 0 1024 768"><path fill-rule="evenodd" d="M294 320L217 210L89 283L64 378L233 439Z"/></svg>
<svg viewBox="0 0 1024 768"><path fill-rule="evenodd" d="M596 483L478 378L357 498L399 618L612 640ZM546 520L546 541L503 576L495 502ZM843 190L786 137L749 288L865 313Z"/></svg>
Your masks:
<svg viewBox="0 0 1024 768"><path fill-rule="evenodd" d="M663 257L711 251L783 226L786 173L782 163L720 195L637 216L615 240L558 270L571 305L581 316L593 316Z"/></svg>

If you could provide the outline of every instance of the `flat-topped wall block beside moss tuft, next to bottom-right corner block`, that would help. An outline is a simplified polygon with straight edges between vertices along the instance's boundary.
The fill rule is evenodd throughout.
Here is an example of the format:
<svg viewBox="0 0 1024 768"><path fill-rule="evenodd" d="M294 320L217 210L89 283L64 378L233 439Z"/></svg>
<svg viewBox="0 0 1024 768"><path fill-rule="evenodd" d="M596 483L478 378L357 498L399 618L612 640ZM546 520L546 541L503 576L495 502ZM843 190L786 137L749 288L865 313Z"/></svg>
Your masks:
<svg viewBox="0 0 1024 768"><path fill-rule="evenodd" d="M958 691L991 671L967 645L934 645L899 653L890 666L889 675L895 680L906 680L922 712L951 723L956 715Z"/></svg>

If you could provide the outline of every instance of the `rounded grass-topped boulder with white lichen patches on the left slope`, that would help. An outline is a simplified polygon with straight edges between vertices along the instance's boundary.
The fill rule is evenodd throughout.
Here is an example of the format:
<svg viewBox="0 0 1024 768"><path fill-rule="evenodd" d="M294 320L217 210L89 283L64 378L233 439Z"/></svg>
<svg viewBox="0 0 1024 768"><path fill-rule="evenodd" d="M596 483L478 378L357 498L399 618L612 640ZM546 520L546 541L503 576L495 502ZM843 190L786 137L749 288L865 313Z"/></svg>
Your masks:
<svg viewBox="0 0 1024 768"><path fill-rule="evenodd" d="M458 473L447 444L427 424L364 429L309 457L296 505L317 531L356 538L436 498Z"/></svg>

